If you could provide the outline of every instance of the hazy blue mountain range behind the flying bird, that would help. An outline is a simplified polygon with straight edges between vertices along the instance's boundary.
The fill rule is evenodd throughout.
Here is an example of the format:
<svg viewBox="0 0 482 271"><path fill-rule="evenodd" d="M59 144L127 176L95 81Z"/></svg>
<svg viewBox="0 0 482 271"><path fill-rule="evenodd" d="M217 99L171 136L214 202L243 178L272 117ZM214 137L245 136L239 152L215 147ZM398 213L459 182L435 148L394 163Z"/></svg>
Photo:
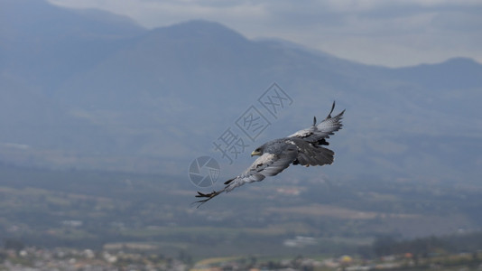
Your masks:
<svg viewBox="0 0 482 271"><path fill-rule="evenodd" d="M152 30L96 10L43 1L0 4L0 163L187 176L207 154L221 177L263 140L347 108L330 140L330 178L477 182L482 175L482 65L364 65L213 22ZM396 52L394 52L396 53ZM279 115L258 102L276 83ZM270 122L236 163L213 141L254 106ZM236 130L239 135L243 135ZM248 142L248 141L247 141ZM283 178L283 177L280 177Z"/></svg>

